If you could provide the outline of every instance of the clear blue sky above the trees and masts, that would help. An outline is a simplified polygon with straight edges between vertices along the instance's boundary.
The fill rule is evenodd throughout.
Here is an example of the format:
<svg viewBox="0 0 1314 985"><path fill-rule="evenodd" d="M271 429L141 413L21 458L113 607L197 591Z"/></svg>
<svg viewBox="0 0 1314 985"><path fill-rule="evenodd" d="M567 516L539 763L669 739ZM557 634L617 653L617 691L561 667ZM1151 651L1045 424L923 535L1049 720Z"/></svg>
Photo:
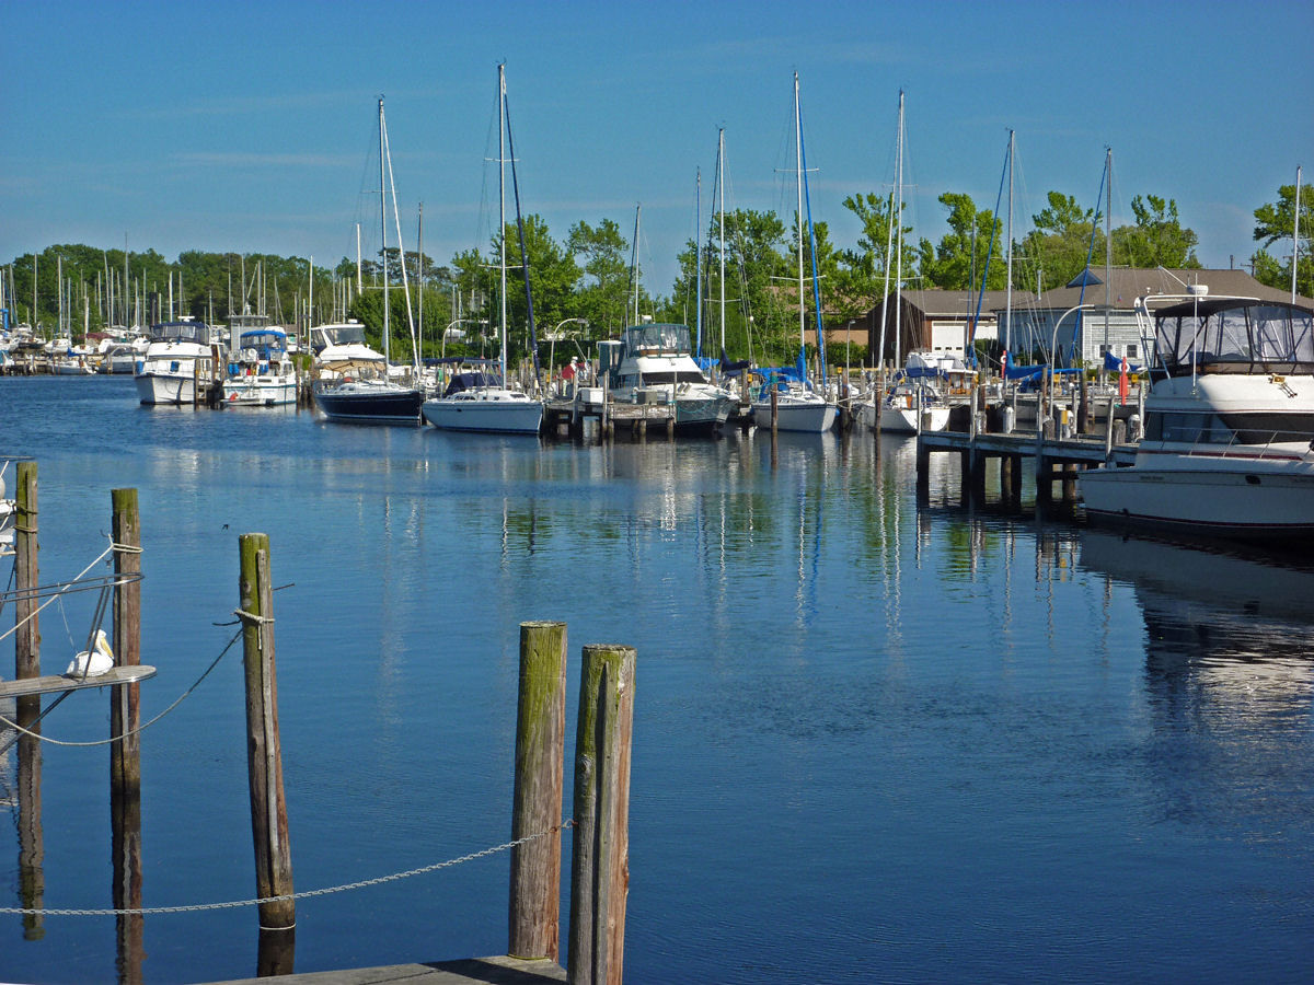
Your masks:
<svg viewBox="0 0 1314 985"><path fill-rule="evenodd" d="M792 213L792 72L812 209L892 181L907 92L915 235L942 192L992 208L1017 131L1014 234L1058 189L1091 205L1113 147L1114 223L1177 201L1205 265L1255 250L1252 213L1314 177L1314 4L1221 3L74 3L0 5L0 261L53 243L264 251L335 264L377 250L376 100L402 230L439 261L495 225L497 63L507 63L526 211L627 238L669 293L710 215ZM493 144L495 147L495 144ZM495 151L494 151L495 152ZM491 206L491 211L490 211ZM392 242L393 234L389 232ZM1275 251L1280 252L1280 251Z"/></svg>

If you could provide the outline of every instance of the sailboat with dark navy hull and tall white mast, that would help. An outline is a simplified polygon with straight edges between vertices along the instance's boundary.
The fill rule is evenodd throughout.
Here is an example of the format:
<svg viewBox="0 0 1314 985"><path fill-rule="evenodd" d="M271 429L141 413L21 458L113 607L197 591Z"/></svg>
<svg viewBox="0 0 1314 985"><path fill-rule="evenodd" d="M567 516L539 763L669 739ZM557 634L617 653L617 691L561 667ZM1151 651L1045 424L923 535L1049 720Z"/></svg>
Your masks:
<svg viewBox="0 0 1314 985"><path fill-rule="evenodd" d="M385 173L392 173L392 159L388 152L388 123L384 120L384 100L378 100L378 200L380 226L382 234L382 274L384 274L384 359L377 365L361 368L357 374L343 374L336 381L321 385L315 390L315 403L328 420L361 424L418 424L419 408L424 394L414 386L403 386L392 380L389 364L389 344L392 326L388 299L388 208ZM397 211L397 188L393 186L393 213ZM397 255L402 264L402 286L406 289L406 305L410 309L410 290L406 284L405 250L401 246L401 223L398 221ZM411 351L415 351L414 326L411 327Z"/></svg>

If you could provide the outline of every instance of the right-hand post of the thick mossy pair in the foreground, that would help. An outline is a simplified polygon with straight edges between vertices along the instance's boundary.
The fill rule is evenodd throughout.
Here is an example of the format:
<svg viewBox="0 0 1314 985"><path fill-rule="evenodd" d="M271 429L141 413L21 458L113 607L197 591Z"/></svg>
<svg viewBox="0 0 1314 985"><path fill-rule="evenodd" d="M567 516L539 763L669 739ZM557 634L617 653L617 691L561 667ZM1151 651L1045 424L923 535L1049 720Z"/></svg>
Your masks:
<svg viewBox="0 0 1314 985"><path fill-rule="evenodd" d="M576 732L566 981L619 985L629 893L629 750L635 647L583 647Z"/></svg>

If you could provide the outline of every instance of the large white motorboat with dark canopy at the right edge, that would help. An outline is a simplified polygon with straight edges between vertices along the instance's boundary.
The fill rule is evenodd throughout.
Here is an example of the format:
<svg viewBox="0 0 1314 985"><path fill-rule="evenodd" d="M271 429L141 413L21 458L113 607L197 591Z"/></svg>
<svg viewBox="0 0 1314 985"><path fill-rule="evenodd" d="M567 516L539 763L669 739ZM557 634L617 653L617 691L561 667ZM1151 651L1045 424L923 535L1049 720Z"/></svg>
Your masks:
<svg viewBox="0 0 1314 985"><path fill-rule="evenodd" d="M1173 298L1151 315L1135 462L1077 475L1092 519L1242 538L1314 536L1314 310ZM1151 327L1152 322L1152 327Z"/></svg>

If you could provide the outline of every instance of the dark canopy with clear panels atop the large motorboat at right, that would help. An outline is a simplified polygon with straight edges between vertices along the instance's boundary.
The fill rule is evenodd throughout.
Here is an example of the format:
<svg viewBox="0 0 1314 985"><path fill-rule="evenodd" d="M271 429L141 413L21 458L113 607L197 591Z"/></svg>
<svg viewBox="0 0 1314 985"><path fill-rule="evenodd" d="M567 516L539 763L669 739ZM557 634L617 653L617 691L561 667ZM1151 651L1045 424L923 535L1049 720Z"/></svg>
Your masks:
<svg viewBox="0 0 1314 985"><path fill-rule="evenodd" d="M1314 310L1307 307L1202 297L1152 317L1159 376L1314 373Z"/></svg>

